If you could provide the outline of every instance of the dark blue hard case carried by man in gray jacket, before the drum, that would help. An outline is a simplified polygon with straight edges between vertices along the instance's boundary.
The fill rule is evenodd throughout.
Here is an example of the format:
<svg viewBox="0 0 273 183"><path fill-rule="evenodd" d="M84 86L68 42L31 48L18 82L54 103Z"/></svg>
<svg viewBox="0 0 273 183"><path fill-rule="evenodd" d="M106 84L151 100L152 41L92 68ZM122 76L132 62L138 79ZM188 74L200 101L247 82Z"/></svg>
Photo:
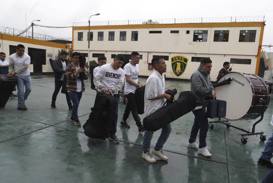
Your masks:
<svg viewBox="0 0 273 183"><path fill-rule="evenodd" d="M224 100L203 100L202 113L208 118L226 117L227 102Z"/></svg>

